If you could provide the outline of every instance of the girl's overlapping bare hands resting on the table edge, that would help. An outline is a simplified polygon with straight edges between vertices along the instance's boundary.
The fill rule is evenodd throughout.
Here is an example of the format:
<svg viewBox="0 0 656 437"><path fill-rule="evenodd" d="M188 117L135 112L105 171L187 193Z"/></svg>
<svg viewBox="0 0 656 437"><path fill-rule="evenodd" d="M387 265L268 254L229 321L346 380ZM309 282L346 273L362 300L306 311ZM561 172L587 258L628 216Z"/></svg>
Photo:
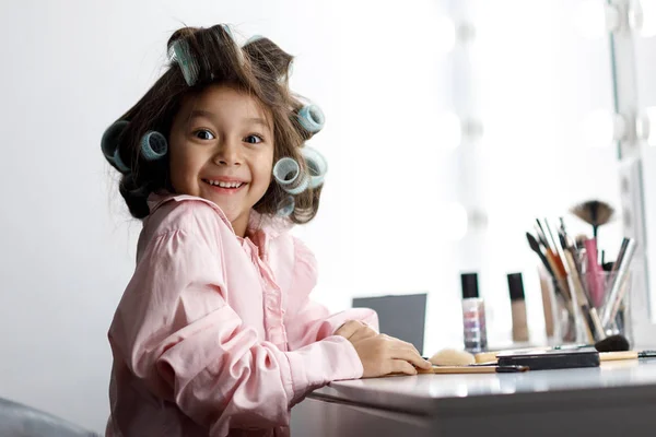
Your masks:
<svg viewBox="0 0 656 437"><path fill-rule="evenodd" d="M356 327L349 321L335 333L349 339L353 344L362 362L363 378L389 374L417 375L415 367L426 370L432 367L432 364L423 359L412 344L394 336L375 333L368 327ZM347 336L348 334L350 338ZM353 341L356 334L361 336Z"/></svg>

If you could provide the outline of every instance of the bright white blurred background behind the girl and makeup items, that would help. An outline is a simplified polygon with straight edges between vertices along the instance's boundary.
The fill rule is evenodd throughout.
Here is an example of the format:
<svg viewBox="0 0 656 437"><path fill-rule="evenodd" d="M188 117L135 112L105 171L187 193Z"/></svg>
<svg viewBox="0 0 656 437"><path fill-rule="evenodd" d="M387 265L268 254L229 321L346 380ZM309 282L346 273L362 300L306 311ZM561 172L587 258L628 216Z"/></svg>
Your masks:
<svg viewBox="0 0 656 437"><path fill-rule="evenodd" d="M476 271L503 343L506 274L522 272L540 341L525 233L562 216L591 236L569 210L598 199L616 209L600 248L643 243L636 323L653 328L655 1L23 0L2 2L0 23L0 397L104 430L106 332L141 224L99 140L184 25L271 38L296 57L293 90L324 109L321 208L294 233L331 310L426 293L424 351L461 347L459 275Z"/></svg>

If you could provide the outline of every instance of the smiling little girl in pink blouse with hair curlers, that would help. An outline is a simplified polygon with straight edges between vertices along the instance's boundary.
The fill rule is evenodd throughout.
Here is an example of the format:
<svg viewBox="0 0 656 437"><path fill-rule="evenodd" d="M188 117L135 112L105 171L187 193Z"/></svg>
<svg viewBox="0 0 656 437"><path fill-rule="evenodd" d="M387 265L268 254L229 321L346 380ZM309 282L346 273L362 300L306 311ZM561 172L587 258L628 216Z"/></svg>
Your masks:
<svg viewBox="0 0 656 437"><path fill-rule="evenodd" d="M102 140L143 221L109 328L112 436L288 435L290 409L332 380L429 368L370 309L312 302L326 162L321 111L289 90L292 57L225 25L168 40L162 78Z"/></svg>

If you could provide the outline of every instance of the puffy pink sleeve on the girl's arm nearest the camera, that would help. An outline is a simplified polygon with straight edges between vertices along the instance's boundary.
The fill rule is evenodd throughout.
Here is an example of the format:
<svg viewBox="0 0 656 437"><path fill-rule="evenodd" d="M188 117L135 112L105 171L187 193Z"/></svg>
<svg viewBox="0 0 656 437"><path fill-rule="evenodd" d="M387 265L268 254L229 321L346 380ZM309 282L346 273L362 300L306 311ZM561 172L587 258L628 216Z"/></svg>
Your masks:
<svg viewBox="0 0 656 437"><path fill-rule="evenodd" d="M220 251L221 241L185 229L144 248L109 340L149 391L214 436L289 425L290 408L308 390L362 375L345 339L292 352L259 340L226 303Z"/></svg>

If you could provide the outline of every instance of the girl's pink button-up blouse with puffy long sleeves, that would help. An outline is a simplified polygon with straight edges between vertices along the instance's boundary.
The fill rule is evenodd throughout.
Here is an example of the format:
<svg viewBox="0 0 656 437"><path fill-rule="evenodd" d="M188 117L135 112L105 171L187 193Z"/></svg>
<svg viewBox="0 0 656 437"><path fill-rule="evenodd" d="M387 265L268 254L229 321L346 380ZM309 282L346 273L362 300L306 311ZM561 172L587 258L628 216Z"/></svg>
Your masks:
<svg viewBox="0 0 656 437"><path fill-rule="evenodd" d="M305 394L362 376L333 332L350 319L377 330L376 314L312 302L315 258L286 229L253 212L241 238L204 199L149 204L108 332L107 437L289 435Z"/></svg>

